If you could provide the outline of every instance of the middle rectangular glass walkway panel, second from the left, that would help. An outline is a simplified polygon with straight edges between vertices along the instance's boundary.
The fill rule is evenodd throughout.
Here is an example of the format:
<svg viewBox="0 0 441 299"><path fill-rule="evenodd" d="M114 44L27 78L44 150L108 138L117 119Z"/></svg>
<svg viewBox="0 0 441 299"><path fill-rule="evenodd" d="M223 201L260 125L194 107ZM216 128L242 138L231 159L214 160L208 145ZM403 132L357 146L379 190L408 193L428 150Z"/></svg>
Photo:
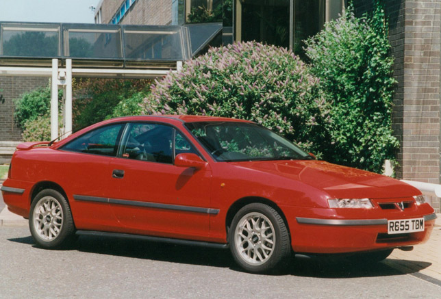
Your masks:
<svg viewBox="0 0 441 299"><path fill-rule="evenodd" d="M121 27L63 25L64 56L87 59L123 59Z"/></svg>

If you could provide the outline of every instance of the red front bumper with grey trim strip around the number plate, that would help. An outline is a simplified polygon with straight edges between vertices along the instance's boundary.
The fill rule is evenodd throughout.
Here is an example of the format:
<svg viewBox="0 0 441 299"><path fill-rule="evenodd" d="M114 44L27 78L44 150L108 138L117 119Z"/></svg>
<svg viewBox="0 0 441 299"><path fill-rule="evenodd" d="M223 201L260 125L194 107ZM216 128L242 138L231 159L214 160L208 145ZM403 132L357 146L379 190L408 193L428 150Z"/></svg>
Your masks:
<svg viewBox="0 0 441 299"><path fill-rule="evenodd" d="M305 213L302 210L294 208L291 210L295 213L292 214L293 217L286 216L292 249L305 253L362 252L423 244L429 239L436 219L436 214L429 205L423 207L424 211L420 213L392 214L393 216L383 214L383 218L369 218L366 213L363 216L336 215L332 209L307 209L303 210ZM286 207L283 207L283 211L286 211ZM425 220L424 231L388 235L388 220L422 217Z"/></svg>

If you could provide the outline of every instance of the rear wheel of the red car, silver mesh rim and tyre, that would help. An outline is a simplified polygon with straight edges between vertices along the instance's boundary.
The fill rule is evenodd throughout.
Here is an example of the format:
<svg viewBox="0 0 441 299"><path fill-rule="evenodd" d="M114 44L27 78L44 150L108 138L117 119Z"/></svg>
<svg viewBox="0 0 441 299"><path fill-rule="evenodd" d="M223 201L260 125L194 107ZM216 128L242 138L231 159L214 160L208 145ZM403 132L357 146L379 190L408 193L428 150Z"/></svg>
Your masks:
<svg viewBox="0 0 441 299"><path fill-rule="evenodd" d="M32 200L29 229L42 248L60 248L75 242L75 226L66 198L52 189L39 192Z"/></svg>

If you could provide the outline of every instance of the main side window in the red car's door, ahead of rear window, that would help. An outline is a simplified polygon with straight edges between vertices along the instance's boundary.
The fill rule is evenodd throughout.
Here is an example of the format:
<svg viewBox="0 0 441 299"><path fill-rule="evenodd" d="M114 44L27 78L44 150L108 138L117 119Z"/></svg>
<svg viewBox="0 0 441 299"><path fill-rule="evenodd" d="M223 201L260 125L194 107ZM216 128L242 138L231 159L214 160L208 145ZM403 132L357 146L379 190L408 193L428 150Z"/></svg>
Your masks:
<svg viewBox="0 0 441 299"><path fill-rule="evenodd" d="M129 159L172 164L173 131L173 127L165 125L131 123L121 155Z"/></svg>

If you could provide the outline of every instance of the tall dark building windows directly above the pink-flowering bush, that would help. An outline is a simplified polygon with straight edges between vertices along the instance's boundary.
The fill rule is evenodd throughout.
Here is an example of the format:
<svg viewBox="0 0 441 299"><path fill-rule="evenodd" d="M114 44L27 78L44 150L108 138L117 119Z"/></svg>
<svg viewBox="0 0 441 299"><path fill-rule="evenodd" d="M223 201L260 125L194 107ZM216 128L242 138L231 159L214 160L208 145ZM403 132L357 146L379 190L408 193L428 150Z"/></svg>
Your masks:
<svg viewBox="0 0 441 299"><path fill-rule="evenodd" d="M303 54L303 40L338 18L345 0L234 0L234 39L256 40Z"/></svg>

